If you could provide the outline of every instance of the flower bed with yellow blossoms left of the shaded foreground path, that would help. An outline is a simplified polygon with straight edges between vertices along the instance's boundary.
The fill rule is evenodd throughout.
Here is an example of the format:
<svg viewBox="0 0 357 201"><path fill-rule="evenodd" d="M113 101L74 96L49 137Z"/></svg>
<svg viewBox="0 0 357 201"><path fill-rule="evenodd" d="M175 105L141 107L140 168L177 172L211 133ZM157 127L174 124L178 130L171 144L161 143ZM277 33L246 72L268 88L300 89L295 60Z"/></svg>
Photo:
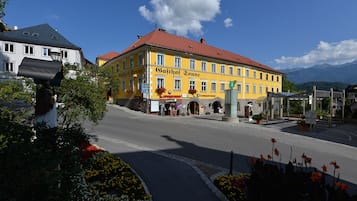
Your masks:
<svg viewBox="0 0 357 201"><path fill-rule="evenodd" d="M85 179L89 188L101 197L121 200L149 200L142 181L130 166L113 154L93 145L84 146Z"/></svg>

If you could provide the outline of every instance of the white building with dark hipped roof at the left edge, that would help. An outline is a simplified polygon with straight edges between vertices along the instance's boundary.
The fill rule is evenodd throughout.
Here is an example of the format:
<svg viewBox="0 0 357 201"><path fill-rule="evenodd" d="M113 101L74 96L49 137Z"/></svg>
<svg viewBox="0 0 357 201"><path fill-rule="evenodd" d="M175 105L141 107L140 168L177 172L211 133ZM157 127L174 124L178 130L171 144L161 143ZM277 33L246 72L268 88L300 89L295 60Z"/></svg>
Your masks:
<svg viewBox="0 0 357 201"><path fill-rule="evenodd" d="M0 32L0 80L15 77L25 57L51 60L51 51L61 53L63 64L81 67L86 61L80 47L48 24Z"/></svg>

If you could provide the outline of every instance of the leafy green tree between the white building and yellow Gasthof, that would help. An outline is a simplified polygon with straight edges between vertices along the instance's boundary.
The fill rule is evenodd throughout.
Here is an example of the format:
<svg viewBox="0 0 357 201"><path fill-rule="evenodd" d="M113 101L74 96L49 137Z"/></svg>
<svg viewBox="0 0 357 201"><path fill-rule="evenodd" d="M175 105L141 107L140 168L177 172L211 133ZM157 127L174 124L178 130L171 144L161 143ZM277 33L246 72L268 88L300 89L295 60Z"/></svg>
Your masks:
<svg viewBox="0 0 357 201"><path fill-rule="evenodd" d="M64 73L75 66L66 66ZM58 108L59 124L70 125L91 121L95 124L106 112L105 90L96 81L92 67L77 70L76 78L63 79L60 87L56 87L57 102L63 103Z"/></svg>

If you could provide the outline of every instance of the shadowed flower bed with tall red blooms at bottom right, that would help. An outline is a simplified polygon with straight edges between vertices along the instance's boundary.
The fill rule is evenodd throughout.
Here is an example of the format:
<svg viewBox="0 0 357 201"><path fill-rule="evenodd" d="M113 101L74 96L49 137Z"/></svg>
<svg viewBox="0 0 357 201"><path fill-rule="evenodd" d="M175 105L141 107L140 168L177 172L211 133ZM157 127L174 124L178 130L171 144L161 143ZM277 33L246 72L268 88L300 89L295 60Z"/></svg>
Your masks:
<svg viewBox="0 0 357 201"><path fill-rule="evenodd" d="M340 166L331 161L333 181L327 182L327 166L321 171L311 167L311 158L302 154L301 163L296 159L285 166L274 161L273 156L281 156L272 138L272 154L266 160L263 155L250 158L250 173L217 176L214 184L231 201L296 200L296 201L350 201L357 195L347 193L348 186L338 177ZM281 159L280 159L281 160Z"/></svg>

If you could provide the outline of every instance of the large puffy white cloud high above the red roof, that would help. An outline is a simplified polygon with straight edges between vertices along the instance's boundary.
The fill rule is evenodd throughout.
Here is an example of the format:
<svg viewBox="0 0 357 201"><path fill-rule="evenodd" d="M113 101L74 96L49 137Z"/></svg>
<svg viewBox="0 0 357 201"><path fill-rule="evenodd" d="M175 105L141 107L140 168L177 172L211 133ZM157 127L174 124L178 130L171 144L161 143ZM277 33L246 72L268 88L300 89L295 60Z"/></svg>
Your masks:
<svg viewBox="0 0 357 201"><path fill-rule="evenodd" d="M168 31L186 36L202 35L202 22L213 21L220 13L221 0L151 0L152 10L139 7L140 14Z"/></svg>

